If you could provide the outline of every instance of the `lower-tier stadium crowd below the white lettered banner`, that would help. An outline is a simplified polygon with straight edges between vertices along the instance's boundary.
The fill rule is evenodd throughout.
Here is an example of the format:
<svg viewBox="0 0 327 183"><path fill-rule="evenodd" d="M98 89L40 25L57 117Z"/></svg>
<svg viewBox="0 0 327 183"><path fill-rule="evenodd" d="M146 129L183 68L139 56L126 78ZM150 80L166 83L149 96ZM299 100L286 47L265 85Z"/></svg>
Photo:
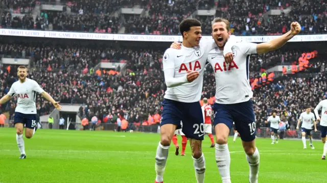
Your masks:
<svg viewBox="0 0 327 183"><path fill-rule="evenodd" d="M161 70L163 51L159 48L151 50L93 45L53 47L45 44L31 46L4 43L0 46L0 55L4 57L31 58L33 68L29 70L29 77L62 103L83 104L85 110L81 111L81 116L91 118L96 115L102 122L111 123L120 114L129 122L143 125L158 122L154 115L160 114L161 101L166 90ZM303 50L279 50L252 56L250 77L260 76L262 69L273 65L297 61L301 51ZM92 69L101 61L126 63L126 69L122 72L120 69ZM322 69L320 75L312 75L307 79L289 76L277 84L271 83L254 90L253 100L259 125L264 126L271 112L277 111L294 126L304 102L310 101L310 105L314 107L322 99L326 85L324 62L316 60L312 63L313 68ZM202 97L210 98L215 95L215 79L211 66L206 70ZM0 77L2 81L6 81L1 84L1 95L4 95L15 81L16 67L3 65ZM323 85L313 87L317 82ZM311 90L308 100L303 100ZM11 100L4 107L12 115L15 101ZM38 98L38 114L49 114L52 109L48 101Z"/></svg>

